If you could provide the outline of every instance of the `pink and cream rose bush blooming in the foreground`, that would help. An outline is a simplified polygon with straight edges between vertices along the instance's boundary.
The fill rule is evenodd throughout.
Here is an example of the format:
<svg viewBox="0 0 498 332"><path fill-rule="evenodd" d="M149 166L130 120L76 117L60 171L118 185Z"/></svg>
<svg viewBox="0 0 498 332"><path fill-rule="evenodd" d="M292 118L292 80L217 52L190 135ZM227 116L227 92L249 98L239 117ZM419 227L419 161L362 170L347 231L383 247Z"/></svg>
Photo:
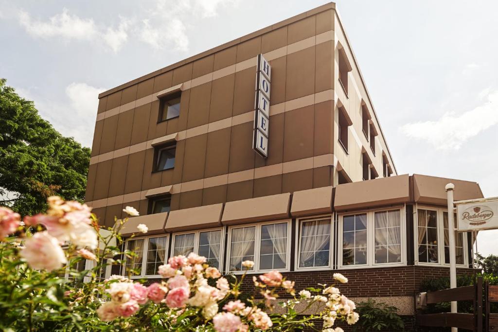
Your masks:
<svg viewBox="0 0 498 332"><path fill-rule="evenodd" d="M122 265L134 255L120 249L127 219L102 232L86 205L58 197L50 197L48 204L46 214L22 222L18 214L0 208L2 330L245 332L320 325L323 331L341 332L333 328L335 321L352 325L359 319L355 303L334 285L296 295L294 282L278 271L253 276L255 293L241 301L246 274L223 276L195 253L170 257L158 268L161 282L149 286L129 276L103 279L108 265ZM124 212L138 215L130 207ZM147 232L145 225L137 228ZM85 260L92 267L77 269ZM246 270L253 265L243 262ZM338 273L333 277L348 281Z"/></svg>

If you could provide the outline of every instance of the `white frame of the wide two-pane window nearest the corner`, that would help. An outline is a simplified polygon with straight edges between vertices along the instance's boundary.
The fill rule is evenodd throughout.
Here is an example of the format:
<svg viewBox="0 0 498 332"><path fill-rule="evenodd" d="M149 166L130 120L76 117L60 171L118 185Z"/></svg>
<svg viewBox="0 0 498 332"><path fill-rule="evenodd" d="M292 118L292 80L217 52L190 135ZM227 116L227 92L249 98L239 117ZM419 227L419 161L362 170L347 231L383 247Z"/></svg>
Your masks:
<svg viewBox="0 0 498 332"><path fill-rule="evenodd" d="M400 213L400 239L401 239L401 261L392 263L375 263L375 213L399 210ZM345 216L367 214L367 264L343 265L343 218ZM337 267L340 270L392 267L406 265L406 209L404 205L384 207L371 210L362 210L338 214L337 227Z"/></svg>

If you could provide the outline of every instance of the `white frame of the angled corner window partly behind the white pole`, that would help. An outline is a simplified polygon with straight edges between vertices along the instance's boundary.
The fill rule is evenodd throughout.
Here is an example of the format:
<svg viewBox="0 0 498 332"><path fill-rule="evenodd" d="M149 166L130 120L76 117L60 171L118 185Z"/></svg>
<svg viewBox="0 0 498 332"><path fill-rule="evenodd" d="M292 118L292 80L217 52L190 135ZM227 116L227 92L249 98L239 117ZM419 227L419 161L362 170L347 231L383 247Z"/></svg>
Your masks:
<svg viewBox="0 0 498 332"><path fill-rule="evenodd" d="M429 210L436 211L437 218L437 239L438 239L438 262L437 263L427 263L427 262L419 262L418 261L418 210ZM425 205L415 205L415 212L413 214L413 253L415 256L415 265L420 266L445 266L450 267L449 263L444 262L444 221L443 221L443 213L448 212L448 209L445 208L435 208L431 206ZM464 255L464 263L456 264L459 268L468 268L469 267L469 248L468 248L468 237L467 232L463 232L463 255Z"/></svg>

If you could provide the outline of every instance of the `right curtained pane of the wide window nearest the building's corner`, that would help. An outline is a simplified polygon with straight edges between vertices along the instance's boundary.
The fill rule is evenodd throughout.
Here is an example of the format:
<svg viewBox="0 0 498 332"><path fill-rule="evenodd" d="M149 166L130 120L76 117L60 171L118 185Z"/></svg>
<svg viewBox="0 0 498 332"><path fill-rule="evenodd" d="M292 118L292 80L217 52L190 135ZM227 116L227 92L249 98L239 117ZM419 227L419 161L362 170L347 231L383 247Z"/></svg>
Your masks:
<svg viewBox="0 0 498 332"><path fill-rule="evenodd" d="M399 210L375 212L375 263L401 262Z"/></svg>

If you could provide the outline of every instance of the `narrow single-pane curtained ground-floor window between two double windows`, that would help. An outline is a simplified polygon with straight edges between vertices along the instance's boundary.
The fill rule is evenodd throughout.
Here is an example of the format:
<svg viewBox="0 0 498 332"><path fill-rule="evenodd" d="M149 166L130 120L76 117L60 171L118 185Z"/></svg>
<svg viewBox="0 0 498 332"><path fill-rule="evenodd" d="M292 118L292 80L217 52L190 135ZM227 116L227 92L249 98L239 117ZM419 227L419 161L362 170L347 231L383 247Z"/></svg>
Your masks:
<svg viewBox="0 0 498 332"><path fill-rule="evenodd" d="M299 221L298 269L331 266L330 217Z"/></svg>

